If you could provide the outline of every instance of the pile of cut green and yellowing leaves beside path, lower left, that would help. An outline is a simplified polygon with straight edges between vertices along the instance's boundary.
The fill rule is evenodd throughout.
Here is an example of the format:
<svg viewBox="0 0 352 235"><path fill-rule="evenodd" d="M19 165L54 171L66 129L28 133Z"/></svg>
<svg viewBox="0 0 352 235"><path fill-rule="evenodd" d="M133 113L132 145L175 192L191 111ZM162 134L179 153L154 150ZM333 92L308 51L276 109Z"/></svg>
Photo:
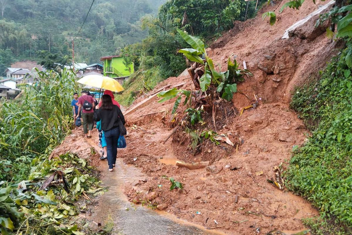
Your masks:
<svg viewBox="0 0 352 235"><path fill-rule="evenodd" d="M92 232L74 217L86 209L90 198L105 191L95 173L86 160L73 154L33 159L29 180L0 183L1 234L105 234Z"/></svg>

